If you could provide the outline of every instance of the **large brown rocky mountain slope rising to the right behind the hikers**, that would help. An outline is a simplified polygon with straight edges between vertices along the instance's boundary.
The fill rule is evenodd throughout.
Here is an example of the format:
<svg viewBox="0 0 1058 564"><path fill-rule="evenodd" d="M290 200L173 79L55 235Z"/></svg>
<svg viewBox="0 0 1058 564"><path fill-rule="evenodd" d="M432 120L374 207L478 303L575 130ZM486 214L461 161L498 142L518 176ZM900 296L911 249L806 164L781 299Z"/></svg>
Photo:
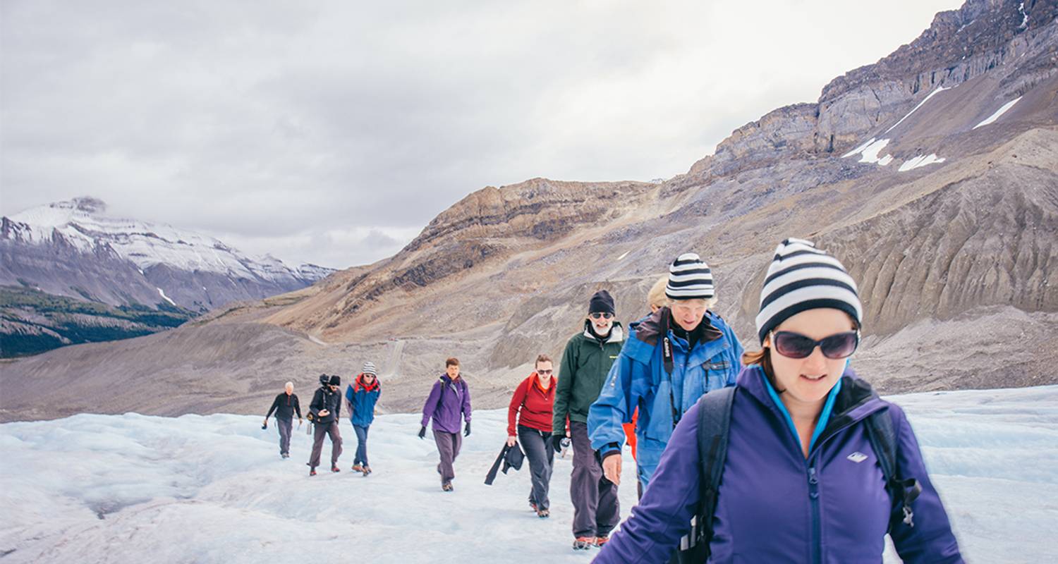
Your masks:
<svg viewBox="0 0 1058 564"><path fill-rule="evenodd" d="M820 102L769 112L662 183L484 188L389 259L164 335L14 363L0 418L40 417L22 382L53 382L52 400L74 408L87 388L73 375L148 370L168 406L124 397L103 408L252 413L287 379L348 375L364 360L382 372L382 408L412 411L449 356L463 361L475 406L499 406L537 353L561 356L592 291L610 290L619 319L635 321L687 251L710 263L716 311L755 349L762 273L788 236L816 240L859 280L854 362L882 392L1054 383L1058 20L1053 3L1024 4L1024 29L1010 16L1018 2L941 14ZM961 34L981 50L964 58ZM924 81L949 68L963 70ZM182 392L191 382L196 394Z"/></svg>

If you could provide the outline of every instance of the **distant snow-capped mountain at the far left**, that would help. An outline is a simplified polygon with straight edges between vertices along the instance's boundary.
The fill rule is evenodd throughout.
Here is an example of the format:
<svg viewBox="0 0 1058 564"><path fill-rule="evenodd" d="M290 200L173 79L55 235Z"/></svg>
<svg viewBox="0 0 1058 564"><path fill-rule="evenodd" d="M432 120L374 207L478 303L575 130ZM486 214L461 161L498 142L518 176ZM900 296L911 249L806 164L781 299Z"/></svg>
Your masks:
<svg viewBox="0 0 1058 564"><path fill-rule="evenodd" d="M250 257L214 237L166 224L109 217L106 204L90 197L4 217L0 244L0 284L200 312L297 290L334 272Z"/></svg>

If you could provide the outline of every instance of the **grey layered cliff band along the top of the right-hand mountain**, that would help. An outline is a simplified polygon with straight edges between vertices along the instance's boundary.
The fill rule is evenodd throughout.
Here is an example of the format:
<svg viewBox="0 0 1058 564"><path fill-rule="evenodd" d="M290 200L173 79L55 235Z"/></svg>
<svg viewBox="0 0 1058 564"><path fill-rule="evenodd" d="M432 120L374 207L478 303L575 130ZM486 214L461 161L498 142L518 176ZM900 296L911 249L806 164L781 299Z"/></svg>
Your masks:
<svg viewBox="0 0 1058 564"><path fill-rule="evenodd" d="M1016 0L972 0L942 12L910 44L832 80L817 103L780 108L736 129L689 174L723 176L780 158L843 153L934 89L993 70L1004 73L1000 95L1021 95L1058 73L1056 17L1054 2Z"/></svg>

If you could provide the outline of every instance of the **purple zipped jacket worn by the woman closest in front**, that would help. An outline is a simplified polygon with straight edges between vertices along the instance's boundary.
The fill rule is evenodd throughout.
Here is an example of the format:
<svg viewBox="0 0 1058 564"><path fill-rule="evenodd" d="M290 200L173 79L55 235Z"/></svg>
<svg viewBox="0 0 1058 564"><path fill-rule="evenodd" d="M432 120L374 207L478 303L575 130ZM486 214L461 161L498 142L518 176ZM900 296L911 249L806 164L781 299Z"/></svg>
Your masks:
<svg viewBox="0 0 1058 564"><path fill-rule="evenodd" d="M738 375L709 562L881 562L890 523L904 562L963 562L902 410L846 371L805 459L767 386L760 366ZM688 533L699 495L700 405L680 420L643 498L596 562L664 562ZM897 436L897 475L923 487L911 505L914 527L894 510L863 425L887 407Z"/></svg>

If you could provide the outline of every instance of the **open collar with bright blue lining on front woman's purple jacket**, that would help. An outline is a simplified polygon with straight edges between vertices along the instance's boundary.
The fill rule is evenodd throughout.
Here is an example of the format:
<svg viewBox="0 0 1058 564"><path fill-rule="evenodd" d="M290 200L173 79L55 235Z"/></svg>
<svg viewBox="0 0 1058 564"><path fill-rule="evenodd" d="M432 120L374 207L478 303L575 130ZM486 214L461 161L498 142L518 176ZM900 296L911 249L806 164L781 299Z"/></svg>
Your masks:
<svg viewBox="0 0 1058 564"><path fill-rule="evenodd" d="M789 413L779 400L779 395L771 387L760 365L751 364L743 368L742 372L738 374L737 385L748 392L761 405L771 411L776 417L786 421L792 431ZM861 421L872 413L884 407L886 402L878 397L871 384L856 376L852 368L845 367L841 379L827 395L826 403L823 406L825 413L820 414L820 421L813 433L809 451L837 431ZM796 431L794 431L794 437L797 438ZM798 444L800 444L800 439L798 439Z"/></svg>

